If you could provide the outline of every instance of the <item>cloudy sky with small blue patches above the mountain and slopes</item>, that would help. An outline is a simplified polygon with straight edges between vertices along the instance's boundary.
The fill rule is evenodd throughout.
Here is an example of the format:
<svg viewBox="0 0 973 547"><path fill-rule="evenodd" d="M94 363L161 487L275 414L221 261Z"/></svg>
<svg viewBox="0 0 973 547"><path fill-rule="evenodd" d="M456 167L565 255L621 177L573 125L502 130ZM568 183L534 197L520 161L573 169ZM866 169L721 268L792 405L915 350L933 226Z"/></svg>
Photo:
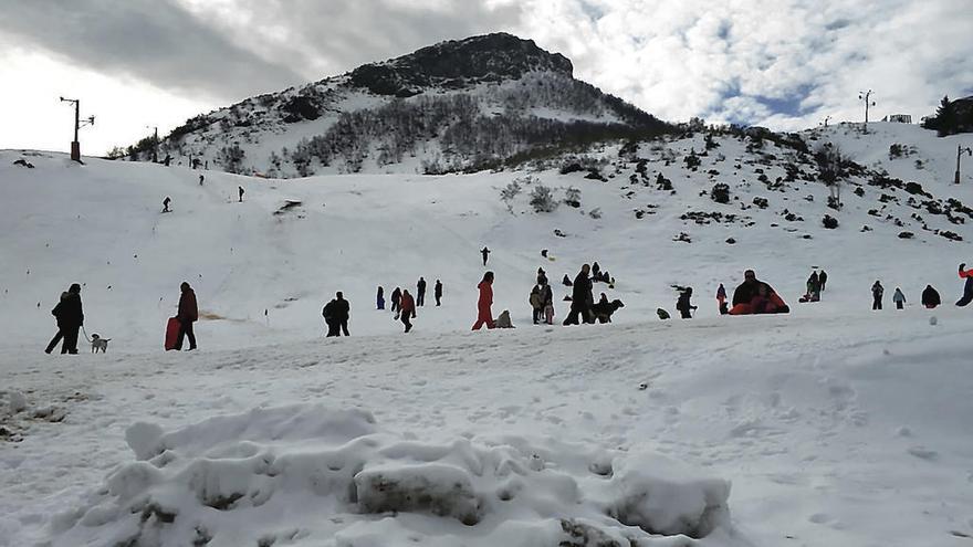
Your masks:
<svg viewBox="0 0 973 547"><path fill-rule="evenodd" d="M973 95L973 0L3 0L0 148L85 154L260 93L505 31L663 119L775 129Z"/></svg>

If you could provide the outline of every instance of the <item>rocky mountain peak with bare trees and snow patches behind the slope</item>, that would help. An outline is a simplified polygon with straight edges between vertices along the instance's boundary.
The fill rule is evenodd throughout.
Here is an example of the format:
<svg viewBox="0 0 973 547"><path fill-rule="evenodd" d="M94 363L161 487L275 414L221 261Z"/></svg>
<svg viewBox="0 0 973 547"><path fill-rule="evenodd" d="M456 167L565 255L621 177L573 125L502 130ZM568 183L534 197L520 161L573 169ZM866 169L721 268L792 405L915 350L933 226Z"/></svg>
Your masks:
<svg viewBox="0 0 973 547"><path fill-rule="evenodd" d="M572 72L510 34L443 42L196 116L157 157L269 177L428 173L668 127ZM148 160L151 148L146 139L132 157Z"/></svg>

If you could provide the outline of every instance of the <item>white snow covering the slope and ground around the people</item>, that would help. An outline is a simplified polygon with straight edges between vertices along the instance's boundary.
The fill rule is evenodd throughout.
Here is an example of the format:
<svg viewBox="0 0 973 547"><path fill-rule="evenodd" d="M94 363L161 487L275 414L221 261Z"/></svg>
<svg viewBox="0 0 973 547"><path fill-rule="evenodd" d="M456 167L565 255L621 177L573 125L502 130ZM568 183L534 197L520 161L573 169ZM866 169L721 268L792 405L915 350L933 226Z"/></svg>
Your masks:
<svg viewBox="0 0 973 547"><path fill-rule="evenodd" d="M878 128L834 138L938 199L973 201L969 185L950 183L955 139ZM913 144L927 165L888 162L890 141ZM0 545L135 534L134 545L584 545L584 534L592 545L598 534L693 544L645 529L720 546L969 545L971 318L952 302L956 264L973 263L970 224L918 211L965 241L922 230L907 196L883 210L906 225L879 220L867 211L880 191L868 186L833 212L826 189L767 192L745 161L734 181L737 145L723 143L725 164L703 158L699 172L649 164L676 196L627 187L630 166L607 183L540 173L582 189L582 211L546 217L523 213L524 196L513 215L499 200L525 173L268 181L210 171L200 188L181 168L0 151ZM673 145L683 146L700 149ZM20 157L36 168L11 166ZM700 196L709 169L739 201ZM159 214L165 196L175 211ZM742 209L753 196L771 206ZM286 199L303 206L273 214ZM636 220L648 203L656 212ZM595 208L600 219L583 214ZM805 222L782 221L784 208ZM697 225L680 220L688 210L753 225ZM820 228L825 212L838 230ZM916 239L900 240L902 230ZM679 232L692 243L672 241ZM511 309L517 329L465 332L484 244L494 311ZM556 281L593 259L618 280L615 291L596 284L626 303L616 323L531 326L536 267L559 298ZM812 266L830 275L824 301L797 304ZM745 267L793 313L719 317L715 284L732 292ZM373 309L375 286L411 290L419 275L430 292L442 278L446 298L404 336ZM881 313L869 311L876 278ZM184 280L208 314L201 350L165 354ZM50 308L72 282L85 284L88 333L113 339L107 355L41 353ZM917 305L927 283L943 308ZM672 311L672 284L697 288L695 319L653 319L657 307ZM906 311L890 309L896 286ZM352 302L355 337L320 338L334 291Z"/></svg>

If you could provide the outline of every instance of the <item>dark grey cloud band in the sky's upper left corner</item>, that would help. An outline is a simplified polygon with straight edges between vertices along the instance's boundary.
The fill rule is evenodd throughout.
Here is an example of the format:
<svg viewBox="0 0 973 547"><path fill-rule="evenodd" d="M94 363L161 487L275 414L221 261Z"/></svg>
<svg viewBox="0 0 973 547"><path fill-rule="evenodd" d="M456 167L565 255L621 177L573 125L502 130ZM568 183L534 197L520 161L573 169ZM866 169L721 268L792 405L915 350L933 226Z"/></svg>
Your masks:
<svg viewBox="0 0 973 547"><path fill-rule="evenodd" d="M175 0L8 0L0 42L177 93L247 96L303 80L241 48Z"/></svg>

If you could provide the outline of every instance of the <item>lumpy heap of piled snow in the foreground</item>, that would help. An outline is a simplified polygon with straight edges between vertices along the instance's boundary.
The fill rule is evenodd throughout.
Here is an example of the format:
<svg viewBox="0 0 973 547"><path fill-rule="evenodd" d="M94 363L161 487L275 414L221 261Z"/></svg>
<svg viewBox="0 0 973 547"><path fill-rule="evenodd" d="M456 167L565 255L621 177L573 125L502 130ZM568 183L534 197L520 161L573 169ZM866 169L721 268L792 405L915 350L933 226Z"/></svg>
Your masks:
<svg viewBox="0 0 973 547"><path fill-rule="evenodd" d="M166 433L52 520L54 545L737 545L730 484L646 452L421 442L363 410L261 408Z"/></svg>

